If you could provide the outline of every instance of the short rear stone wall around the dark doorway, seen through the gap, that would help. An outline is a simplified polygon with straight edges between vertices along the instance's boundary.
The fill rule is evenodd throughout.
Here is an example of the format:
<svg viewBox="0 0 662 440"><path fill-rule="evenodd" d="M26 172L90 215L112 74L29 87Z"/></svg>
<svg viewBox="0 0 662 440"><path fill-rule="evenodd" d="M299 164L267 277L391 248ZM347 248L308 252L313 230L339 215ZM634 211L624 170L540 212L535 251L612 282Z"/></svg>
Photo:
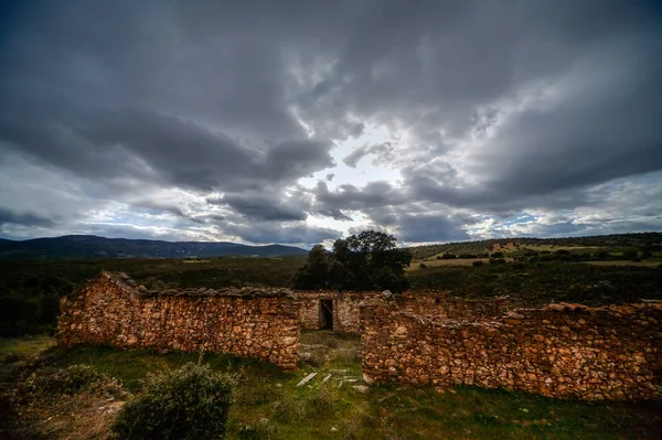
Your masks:
<svg viewBox="0 0 662 440"><path fill-rule="evenodd" d="M365 296L373 293L297 290L292 294L300 303L299 322L302 329L316 330L324 326L321 301L330 300L333 304L333 332L359 334L359 304Z"/></svg>

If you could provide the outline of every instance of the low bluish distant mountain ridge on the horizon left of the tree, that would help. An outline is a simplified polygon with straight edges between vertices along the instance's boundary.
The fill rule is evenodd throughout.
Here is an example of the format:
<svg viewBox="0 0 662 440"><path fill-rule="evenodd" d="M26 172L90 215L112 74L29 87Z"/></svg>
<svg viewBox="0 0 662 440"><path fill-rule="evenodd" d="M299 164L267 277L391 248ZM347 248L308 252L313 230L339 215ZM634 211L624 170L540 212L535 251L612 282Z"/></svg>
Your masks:
<svg viewBox="0 0 662 440"><path fill-rule="evenodd" d="M161 242L66 235L14 242L0 238L1 259L61 258L191 258L222 256L276 257L306 255L308 250L281 245L248 246L225 242Z"/></svg>

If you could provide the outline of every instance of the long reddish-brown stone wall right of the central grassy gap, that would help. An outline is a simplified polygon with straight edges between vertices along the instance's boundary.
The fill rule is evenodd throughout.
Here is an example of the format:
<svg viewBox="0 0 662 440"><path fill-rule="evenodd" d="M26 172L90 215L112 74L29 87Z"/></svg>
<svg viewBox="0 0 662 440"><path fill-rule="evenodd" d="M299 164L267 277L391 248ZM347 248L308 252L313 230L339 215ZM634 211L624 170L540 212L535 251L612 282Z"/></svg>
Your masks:
<svg viewBox="0 0 662 440"><path fill-rule="evenodd" d="M407 310L409 305L409 310ZM662 398L662 304L551 304L473 321L415 313L406 298L361 308L363 372L377 382L477 385L556 398Z"/></svg>

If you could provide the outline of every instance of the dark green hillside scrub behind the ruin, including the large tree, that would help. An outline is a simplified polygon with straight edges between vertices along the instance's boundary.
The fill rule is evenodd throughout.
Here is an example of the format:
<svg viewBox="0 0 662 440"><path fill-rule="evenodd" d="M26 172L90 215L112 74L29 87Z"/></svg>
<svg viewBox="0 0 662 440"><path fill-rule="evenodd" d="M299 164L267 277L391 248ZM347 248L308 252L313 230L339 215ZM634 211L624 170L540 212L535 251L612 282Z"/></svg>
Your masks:
<svg viewBox="0 0 662 440"><path fill-rule="evenodd" d="M154 289L296 286L398 291L409 282L413 290L445 290L465 297L510 296L514 301L528 304L548 301L606 304L641 298L660 299L662 251L656 250L658 242L654 240L661 235L583 237L573 238L573 243L560 239L558 246L564 244L565 247L540 244L548 240L526 246L524 242L502 243L499 250L490 254L491 259L468 258L468 255L473 256L467 254L468 248L446 248L440 255L433 254L425 260L415 258L407 272L401 269L409 262L408 258L394 248L394 240L371 244L371 240L362 243L359 236L352 242L340 240L331 253L316 247L308 260L303 257L0 260L0 336L52 332L60 299L104 269L126 271L138 283ZM598 243L609 246L576 246ZM641 247L631 247L636 243L642 244ZM569 244L575 246L566 246ZM613 247L616 244L629 247ZM378 250L376 259L365 250L371 249L370 246ZM409 250L416 253L416 249ZM458 254L451 254L449 249ZM352 258L346 259L348 255ZM385 270L378 269L382 261Z"/></svg>

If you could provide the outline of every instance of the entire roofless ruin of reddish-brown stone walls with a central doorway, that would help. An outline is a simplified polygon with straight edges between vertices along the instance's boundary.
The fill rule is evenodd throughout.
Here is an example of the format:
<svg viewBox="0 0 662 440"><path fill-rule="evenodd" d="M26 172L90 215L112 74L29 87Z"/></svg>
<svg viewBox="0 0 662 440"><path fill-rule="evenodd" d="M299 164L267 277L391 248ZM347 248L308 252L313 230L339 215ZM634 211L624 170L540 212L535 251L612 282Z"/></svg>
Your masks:
<svg viewBox="0 0 662 440"><path fill-rule="evenodd" d="M360 334L364 376L556 398L662 398L662 303L514 308L442 292L150 291L102 272L61 303L58 343L210 351L299 363L301 330Z"/></svg>

